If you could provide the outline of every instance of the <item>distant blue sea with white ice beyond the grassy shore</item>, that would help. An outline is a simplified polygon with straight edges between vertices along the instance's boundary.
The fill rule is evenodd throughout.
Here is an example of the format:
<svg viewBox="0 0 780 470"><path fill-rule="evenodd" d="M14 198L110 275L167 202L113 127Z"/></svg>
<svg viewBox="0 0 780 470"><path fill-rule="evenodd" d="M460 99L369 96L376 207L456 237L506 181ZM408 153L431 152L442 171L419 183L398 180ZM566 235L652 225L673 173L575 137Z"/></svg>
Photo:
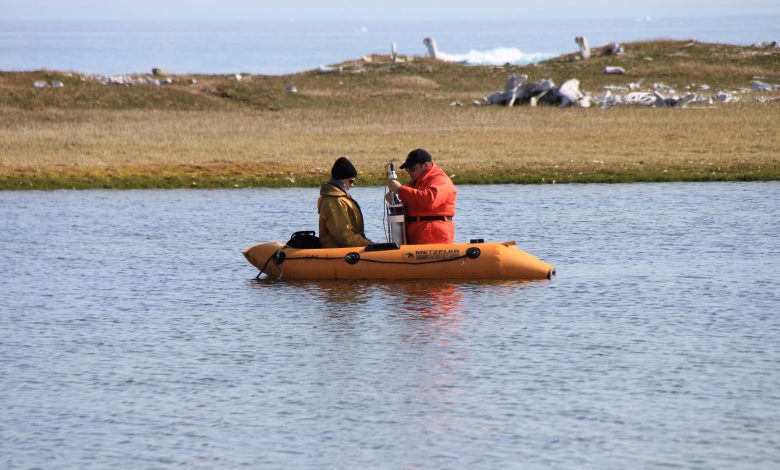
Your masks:
<svg viewBox="0 0 780 470"><path fill-rule="evenodd" d="M525 64L591 46L645 39L751 44L780 40L780 16L528 19L520 21L4 21L0 70L97 74L302 72L367 54L425 55L433 37L445 60Z"/></svg>

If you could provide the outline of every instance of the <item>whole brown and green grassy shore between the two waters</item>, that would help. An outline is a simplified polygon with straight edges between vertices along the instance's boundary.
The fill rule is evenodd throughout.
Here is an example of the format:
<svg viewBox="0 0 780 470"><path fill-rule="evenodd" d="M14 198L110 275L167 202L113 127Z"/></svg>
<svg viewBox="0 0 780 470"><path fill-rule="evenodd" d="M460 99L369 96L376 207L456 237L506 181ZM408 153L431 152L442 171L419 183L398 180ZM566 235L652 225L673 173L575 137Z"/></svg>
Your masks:
<svg viewBox="0 0 780 470"><path fill-rule="evenodd" d="M678 93L780 83L780 51L697 42L629 43L628 53L536 66L414 58L341 64L342 74L174 76L107 86L65 72L0 72L0 189L313 186L339 155L361 184L427 148L456 183L780 179L780 92L655 109L477 107L511 73L594 94L644 78ZM605 65L625 67L605 75ZM197 83L192 84L192 79ZM34 89L36 80L63 88ZM285 91L294 84L299 93ZM696 87L693 88L696 90ZM464 106L450 106L453 102Z"/></svg>

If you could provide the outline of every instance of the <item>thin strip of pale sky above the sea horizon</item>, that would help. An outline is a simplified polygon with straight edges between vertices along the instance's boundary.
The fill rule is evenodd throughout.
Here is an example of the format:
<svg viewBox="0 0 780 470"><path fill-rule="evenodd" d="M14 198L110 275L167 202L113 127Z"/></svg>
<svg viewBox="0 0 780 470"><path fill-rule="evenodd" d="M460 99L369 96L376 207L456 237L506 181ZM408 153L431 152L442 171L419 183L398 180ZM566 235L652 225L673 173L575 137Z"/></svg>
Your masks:
<svg viewBox="0 0 780 470"><path fill-rule="evenodd" d="M404 20L780 15L780 0L0 0L0 20ZM780 30L780 26L778 26Z"/></svg>

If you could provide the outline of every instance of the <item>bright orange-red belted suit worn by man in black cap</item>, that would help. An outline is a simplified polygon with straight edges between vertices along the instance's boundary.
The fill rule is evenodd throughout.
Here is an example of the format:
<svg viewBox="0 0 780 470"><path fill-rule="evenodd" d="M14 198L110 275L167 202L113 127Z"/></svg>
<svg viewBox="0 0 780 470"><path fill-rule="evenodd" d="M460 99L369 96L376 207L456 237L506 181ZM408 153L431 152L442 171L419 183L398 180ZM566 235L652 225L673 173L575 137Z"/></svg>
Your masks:
<svg viewBox="0 0 780 470"><path fill-rule="evenodd" d="M401 186L398 195L404 203L407 217L455 216L458 192L444 171L435 163L409 186ZM452 243L455 223L452 220L418 220L406 222L406 243Z"/></svg>

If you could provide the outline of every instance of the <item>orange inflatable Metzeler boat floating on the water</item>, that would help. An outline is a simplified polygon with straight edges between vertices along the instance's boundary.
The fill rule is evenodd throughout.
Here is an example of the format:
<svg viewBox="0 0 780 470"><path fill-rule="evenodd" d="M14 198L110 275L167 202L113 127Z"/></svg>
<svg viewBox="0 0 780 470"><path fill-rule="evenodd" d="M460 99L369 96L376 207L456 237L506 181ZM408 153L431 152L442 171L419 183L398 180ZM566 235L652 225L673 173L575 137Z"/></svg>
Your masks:
<svg viewBox="0 0 780 470"><path fill-rule="evenodd" d="M555 268L515 242L353 248L290 248L265 242L244 250L279 279L550 279Z"/></svg>

